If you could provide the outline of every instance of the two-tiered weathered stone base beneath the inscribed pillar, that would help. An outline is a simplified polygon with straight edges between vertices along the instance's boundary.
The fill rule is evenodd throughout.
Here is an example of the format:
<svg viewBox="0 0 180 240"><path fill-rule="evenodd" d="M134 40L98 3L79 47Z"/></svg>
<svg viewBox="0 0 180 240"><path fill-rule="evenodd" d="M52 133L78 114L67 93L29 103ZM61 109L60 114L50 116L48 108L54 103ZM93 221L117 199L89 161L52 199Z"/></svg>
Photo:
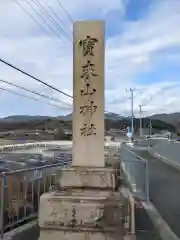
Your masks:
<svg viewBox="0 0 180 240"><path fill-rule="evenodd" d="M126 199L115 182L112 168L60 170L59 189L40 199L39 239L124 239Z"/></svg>

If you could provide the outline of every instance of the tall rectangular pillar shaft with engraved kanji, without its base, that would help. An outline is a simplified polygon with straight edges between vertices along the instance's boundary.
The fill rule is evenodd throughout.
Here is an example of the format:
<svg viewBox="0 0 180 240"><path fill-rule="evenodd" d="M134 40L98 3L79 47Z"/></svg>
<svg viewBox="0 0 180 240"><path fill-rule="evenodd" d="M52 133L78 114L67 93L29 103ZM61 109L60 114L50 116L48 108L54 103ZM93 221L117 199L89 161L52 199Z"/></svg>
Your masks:
<svg viewBox="0 0 180 240"><path fill-rule="evenodd" d="M104 22L74 23L73 166L104 167Z"/></svg>

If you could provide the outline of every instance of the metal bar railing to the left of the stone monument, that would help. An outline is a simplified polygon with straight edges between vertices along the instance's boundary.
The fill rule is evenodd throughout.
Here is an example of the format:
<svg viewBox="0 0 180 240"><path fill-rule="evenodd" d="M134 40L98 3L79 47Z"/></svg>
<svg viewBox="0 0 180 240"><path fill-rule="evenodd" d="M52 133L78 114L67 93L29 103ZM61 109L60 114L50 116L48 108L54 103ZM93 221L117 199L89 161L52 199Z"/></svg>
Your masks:
<svg viewBox="0 0 180 240"><path fill-rule="evenodd" d="M0 233L37 218L40 196L58 181L59 169L70 164L64 159L58 164L3 172L0 174Z"/></svg>

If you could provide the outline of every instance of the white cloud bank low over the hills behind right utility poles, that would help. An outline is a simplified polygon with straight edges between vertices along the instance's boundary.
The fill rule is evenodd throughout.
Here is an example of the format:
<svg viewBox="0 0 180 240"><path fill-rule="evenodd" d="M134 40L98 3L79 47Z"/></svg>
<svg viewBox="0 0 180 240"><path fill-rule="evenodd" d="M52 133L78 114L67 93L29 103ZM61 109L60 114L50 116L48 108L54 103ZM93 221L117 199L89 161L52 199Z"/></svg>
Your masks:
<svg viewBox="0 0 180 240"><path fill-rule="evenodd" d="M157 112L179 112L179 92L180 82L175 81L138 86L134 92L134 113L139 116L139 105L144 105L144 116ZM130 115L130 93L128 101L125 100L125 93L122 96L124 98L119 98L117 102L116 99L112 101L112 108L117 113L122 113L123 109L123 112Z"/></svg>

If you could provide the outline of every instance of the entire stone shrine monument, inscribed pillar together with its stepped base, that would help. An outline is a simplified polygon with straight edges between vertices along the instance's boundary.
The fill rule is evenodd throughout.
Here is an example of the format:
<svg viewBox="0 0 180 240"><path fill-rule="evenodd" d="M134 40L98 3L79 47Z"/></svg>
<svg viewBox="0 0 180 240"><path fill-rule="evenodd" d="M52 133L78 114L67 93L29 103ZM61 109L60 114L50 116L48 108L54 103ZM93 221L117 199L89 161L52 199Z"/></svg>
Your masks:
<svg viewBox="0 0 180 240"><path fill-rule="evenodd" d="M74 23L73 164L40 199L40 240L122 240L125 199L104 160L104 23Z"/></svg>

